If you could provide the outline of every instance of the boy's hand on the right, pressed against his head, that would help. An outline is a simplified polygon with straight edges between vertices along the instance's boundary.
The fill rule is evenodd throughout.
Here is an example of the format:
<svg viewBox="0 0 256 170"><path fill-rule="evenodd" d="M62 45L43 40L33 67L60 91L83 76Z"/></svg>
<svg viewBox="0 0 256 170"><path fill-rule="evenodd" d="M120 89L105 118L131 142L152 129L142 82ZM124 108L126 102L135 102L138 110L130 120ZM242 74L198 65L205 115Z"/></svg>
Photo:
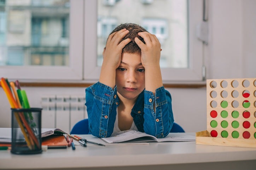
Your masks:
<svg viewBox="0 0 256 170"><path fill-rule="evenodd" d="M138 35L141 36L146 43L144 44L138 37L134 39L141 49L141 63L143 67L159 65L161 44L157 37L149 32L139 32Z"/></svg>

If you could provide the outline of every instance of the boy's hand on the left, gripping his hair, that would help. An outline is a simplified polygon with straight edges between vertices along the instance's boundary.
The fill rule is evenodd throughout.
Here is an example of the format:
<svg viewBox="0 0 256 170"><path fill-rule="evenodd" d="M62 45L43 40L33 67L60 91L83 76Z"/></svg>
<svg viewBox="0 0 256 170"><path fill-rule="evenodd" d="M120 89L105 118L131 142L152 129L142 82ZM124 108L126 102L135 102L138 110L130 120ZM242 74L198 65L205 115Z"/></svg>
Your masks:
<svg viewBox="0 0 256 170"><path fill-rule="evenodd" d="M103 62L105 62L105 64L115 69L119 67L122 49L131 41L129 38L122 40L128 32L128 30L122 29L109 35L106 47L103 50Z"/></svg>

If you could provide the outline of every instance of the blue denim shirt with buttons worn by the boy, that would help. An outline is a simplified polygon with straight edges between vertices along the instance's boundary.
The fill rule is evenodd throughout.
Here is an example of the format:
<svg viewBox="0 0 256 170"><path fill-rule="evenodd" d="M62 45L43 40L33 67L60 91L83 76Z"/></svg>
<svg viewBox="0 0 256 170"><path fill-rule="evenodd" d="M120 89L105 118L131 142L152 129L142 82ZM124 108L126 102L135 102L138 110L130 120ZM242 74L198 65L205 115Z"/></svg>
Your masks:
<svg viewBox="0 0 256 170"><path fill-rule="evenodd" d="M116 86L113 90L97 82L85 91L90 133L100 138L110 137L114 130L116 108L119 106ZM153 109L154 102L156 112ZM174 122L170 93L163 86L156 89L155 96L144 89L139 94L131 115L140 132L157 138L167 136Z"/></svg>

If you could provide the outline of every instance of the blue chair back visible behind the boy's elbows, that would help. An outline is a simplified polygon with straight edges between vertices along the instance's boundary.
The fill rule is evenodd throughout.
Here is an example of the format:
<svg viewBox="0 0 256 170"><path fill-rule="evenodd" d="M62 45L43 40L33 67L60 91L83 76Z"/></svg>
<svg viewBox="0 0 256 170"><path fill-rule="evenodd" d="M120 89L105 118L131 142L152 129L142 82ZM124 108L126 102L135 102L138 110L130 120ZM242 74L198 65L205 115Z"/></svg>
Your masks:
<svg viewBox="0 0 256 170"><path fill-rule="evenodd" d="M89 133L89 125L88 125L88 119L83 119L78 121L72 128L70 134L88 134ZM177 132L185 132L183 128L173 123L173 127L171 128L171 133L177 133Z"/></svg>

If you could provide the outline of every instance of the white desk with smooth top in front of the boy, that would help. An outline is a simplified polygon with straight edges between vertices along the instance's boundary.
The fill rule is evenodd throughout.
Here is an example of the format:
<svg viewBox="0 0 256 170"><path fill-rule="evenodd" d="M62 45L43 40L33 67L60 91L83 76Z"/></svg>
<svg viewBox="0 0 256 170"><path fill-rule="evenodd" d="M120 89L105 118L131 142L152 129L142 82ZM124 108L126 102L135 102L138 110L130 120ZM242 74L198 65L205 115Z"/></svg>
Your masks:
<svg viewBox="0 0 256 170"><path fill-rule="evenodd" d="M191 133L188 133L191 134ZM194 133L192 133L194 134ZM91 135L85 138L99 141ZM14 155L0 151L0 169L256 169L256 149L165 142L148 145L88 144L67 149L48 149L41 154Z"/></svg>

